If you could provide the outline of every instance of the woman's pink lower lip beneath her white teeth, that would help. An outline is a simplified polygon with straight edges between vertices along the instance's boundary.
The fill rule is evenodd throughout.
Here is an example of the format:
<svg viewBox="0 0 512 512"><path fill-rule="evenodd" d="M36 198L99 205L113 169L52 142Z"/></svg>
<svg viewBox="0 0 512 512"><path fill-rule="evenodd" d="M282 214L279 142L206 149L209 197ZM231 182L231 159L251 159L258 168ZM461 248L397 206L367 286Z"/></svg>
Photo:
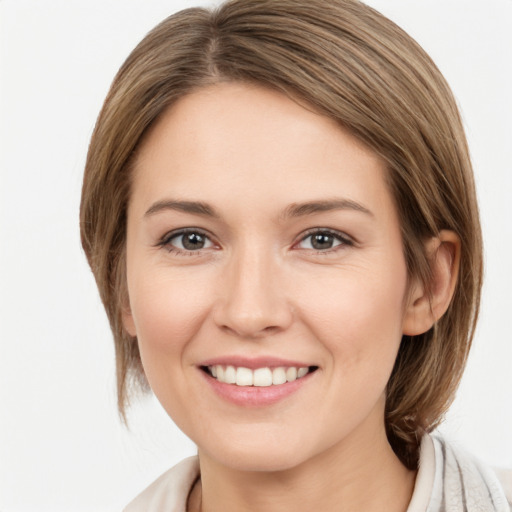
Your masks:
<svg viewBox="0 0 512 512"><path fill-rule="evenodd" d="M236 386L219 382L208 373L200 370L217 395L235 405L243 407L265 407L275 404L296 393L314 373L308 373L293 382L273 386Z"/></svg>

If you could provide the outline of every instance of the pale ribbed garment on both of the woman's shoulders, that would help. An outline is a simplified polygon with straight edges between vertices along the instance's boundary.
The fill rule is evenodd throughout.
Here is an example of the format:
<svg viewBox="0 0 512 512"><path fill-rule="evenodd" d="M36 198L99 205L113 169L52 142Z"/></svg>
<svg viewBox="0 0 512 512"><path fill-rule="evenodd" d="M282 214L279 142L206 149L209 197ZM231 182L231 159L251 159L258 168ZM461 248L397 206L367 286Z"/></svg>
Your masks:
<svg viewBox="0 0 512 512"><path fill-rule="evenodd" d="M124 512L186 512L199 478L199 461L189 457L164 473ZM442 437L425 435L407 512L511 512L512 472L494 472Z"/></svg>

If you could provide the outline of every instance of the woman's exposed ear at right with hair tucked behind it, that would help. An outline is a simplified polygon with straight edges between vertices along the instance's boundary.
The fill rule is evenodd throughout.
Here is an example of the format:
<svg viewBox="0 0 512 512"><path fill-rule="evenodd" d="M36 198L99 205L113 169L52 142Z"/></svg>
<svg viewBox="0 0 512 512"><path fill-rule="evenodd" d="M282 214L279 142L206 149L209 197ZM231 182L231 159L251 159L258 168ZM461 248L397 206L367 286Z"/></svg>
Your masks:
<svg viewBox="0 0 512 512"><path fill-rule="evenodd" d="M427 332L446 312L455 291L460 263L460 238L443 230L426 243L432 282L430 293L422 283L412 284L404 312L403 334Z"/></svg>

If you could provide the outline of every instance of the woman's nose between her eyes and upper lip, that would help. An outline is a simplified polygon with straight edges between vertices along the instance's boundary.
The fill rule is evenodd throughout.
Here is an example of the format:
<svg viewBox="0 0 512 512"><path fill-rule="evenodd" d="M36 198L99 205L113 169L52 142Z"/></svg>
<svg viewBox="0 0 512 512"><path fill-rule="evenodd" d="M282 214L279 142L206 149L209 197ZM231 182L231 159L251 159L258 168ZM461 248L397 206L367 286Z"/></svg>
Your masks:
<svg viewBox="0 0 512 512"><path fill-rule="evenodd" d="M254 247L234 256L221 277L214 321L242 338L262 338L289 327L293 309L275 258Z"/></svg>

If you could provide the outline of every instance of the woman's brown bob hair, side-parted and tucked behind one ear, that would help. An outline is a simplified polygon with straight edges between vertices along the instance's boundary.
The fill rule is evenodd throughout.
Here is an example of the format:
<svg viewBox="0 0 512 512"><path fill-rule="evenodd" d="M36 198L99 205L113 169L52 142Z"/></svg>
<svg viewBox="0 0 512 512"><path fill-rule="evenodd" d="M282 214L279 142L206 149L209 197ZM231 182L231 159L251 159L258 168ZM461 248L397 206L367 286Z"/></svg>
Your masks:
<svg viewBox="0 0 512 512"><path fill-rule="evenodd" d="M118 406L147 382L128 307L126 210L144 135L173 103L220 82L259 84L334 119L378 154L401 221L409 279L428 289L425 241L461 240L445 315L404 336L387 388L388 439L417 464L421 436L441 421L465 366L478 315L482 247L471 162L446 81L422 48L357 0L231 0L164 20L122 65L91 139L83 182L82 245L114 334ZM312 177L313 179L313 177Z"/></svg>

